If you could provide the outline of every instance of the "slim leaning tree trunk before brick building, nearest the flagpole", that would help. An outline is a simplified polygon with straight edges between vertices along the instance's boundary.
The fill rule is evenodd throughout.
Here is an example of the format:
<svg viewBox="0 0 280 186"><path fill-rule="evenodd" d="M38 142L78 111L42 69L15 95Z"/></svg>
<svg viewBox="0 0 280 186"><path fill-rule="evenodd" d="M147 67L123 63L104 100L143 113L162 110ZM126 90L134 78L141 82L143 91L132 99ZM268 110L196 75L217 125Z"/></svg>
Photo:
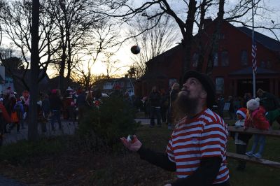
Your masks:
<svg viewBox="0 0 280 186"><path fill-rule="evenodd" d="M216 29L214 31L213 34L213 38L212 38L212 48L210 50L209 53L209 57L208 57L208 64L207 64L207 71L206 73L211 75L212 70L213 70L213 66L214 66L214 55L215 53L218 52L218 43L219 43L219 38L221 35L221 24L223 23L223 15L225 13L224 11L224 6L225 6L225 0L220 0L219 2L219 11L218 11L218 17L216 20Z"/></svg>

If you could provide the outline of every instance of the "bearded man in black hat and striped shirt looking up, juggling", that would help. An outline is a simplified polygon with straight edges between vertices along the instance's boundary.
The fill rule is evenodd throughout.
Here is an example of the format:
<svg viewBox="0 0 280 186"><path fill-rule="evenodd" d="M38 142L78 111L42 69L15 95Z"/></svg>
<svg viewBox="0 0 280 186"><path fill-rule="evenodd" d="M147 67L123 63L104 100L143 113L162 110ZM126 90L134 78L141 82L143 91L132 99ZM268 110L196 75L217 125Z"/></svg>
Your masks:
<svg viewBox="0 0 280 186"><path fill-rule="evenodd" d="M120 140L126 148L138 152L141 159L176 171L178 179L168 186L228 186L228 129L223 119L209 109L215 101L215 85L209 76L197 71L186 72L183 82L176 99L183 118L176 124L165 153L144 148L135 135L131 141Z"/></svg>

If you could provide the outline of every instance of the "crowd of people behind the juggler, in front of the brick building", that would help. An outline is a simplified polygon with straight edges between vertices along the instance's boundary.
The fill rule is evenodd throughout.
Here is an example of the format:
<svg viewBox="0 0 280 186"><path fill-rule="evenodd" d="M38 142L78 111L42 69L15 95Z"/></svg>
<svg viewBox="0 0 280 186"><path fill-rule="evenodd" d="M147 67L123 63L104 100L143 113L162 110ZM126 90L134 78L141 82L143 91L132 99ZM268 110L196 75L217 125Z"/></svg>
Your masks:
<svg viewBox="0 0 280 186"><path fill-rule="evenodd" d="M174 83L169 91L154 86L151 93L141 99L141 103L136 103L137 100L135 100L134 106L143 110L145 116L151 119L150 127L155 126L156 120L158 127L165 123L168 125L168 129L172 129L172 123L174 125L174 121L178 119L174 115L174 101L179 91L179 83ZM279 98L261 89L258 90L257 95L260 99L260 106L266 110L266 119L269 120L269 124L271 125L274 121L280 124ZM219 94L211 109L223 119L227 118L225 113L228 113L228 119L237 120L237 110L247 108L246 103L251 99L253 99L251 93L245 93L243 97L228 96L228 99Z"/></svg>

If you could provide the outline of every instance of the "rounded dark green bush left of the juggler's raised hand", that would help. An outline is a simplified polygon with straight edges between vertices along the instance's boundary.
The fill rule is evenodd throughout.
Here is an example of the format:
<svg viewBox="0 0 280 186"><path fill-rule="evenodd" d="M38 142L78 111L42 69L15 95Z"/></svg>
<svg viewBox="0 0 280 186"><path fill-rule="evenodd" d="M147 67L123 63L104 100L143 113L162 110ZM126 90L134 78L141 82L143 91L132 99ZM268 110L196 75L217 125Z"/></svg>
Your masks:
<svg viewBox="0 0 280 186"><path fill-rule="evenodd" d="M88 110L80 122L78 134L102 139L112 146L121 136L134 134L138 124L134 120L135 109L120 96L103 99L99 108Z"/></svg>

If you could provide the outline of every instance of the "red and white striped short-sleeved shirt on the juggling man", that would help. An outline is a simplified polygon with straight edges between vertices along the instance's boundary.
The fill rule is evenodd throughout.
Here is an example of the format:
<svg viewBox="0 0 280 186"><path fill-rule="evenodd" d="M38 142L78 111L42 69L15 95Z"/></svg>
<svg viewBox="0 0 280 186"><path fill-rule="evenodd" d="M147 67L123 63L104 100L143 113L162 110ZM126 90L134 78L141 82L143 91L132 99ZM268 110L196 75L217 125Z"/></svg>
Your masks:
<svg viewBox="0 0 280 186"><path fill-rule="evenodd" d="M229 179L226 166L227 141L227 125L208 108L196 117L184 117L176 124L166 151L170 161L176 164L178 178L193 174L203 157L221 157L223 161L214 184L223 183Z"/></svg>

